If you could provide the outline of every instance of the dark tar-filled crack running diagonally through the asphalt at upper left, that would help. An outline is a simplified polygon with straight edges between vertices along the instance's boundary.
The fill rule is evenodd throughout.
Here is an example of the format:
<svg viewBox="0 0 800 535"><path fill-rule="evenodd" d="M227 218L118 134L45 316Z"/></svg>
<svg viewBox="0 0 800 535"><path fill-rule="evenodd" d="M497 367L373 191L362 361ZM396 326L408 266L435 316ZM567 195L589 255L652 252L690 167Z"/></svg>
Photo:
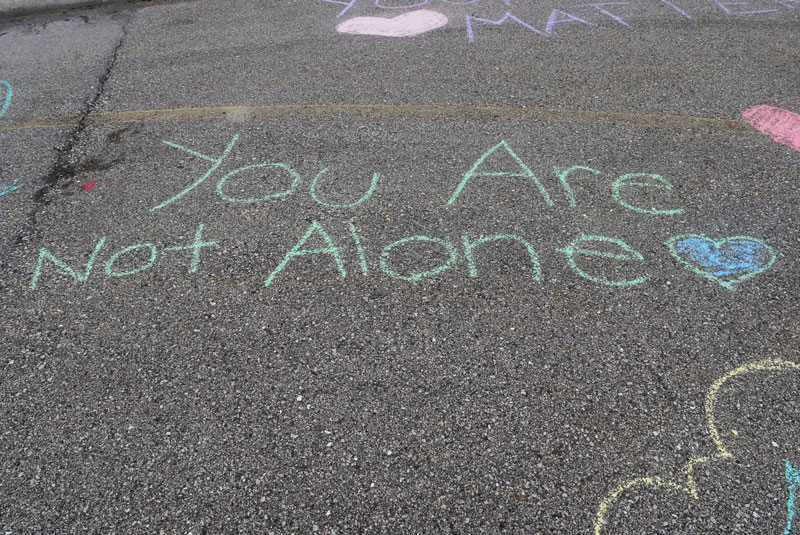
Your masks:
<svg viewBox="0 0 800 535"><path fill-rule="evenodd" d="M108 82L111 74L114 71L114 68L117 65L120 50L122 49L122 46L125 43L125 38L128 35L127 26L128 23L126 21L122 25L122 35L114 47L114 52L111 55L111 59L97 82L97 89L94 95L92 96L91 100L88 101L86 107L81 113L77 126L70 129L64 144L56 149L55 162L50 167L50 170L47 172L47 174L43 177L44 185L36 190L32 196L35 205L28 214L27 220L22 225L22 228L14 237L14 239L11 240L10 246L6 248L6 250L3 251L2 256L0 256L0 273L8 273L12 270L7 259L10 258L11 253L16 248L21 246L26 239L35 239L38 236L39 212L43 207L50 204L51 200L48 198L49 194L58 187L63 189L69 186L72 184L73 179L78 174L90 170L93 165L96 165L96 160L90 160L88 163L73 162L72 153L75 150L75 146L82 138L84 131L86 130L87 118L97 109L100 99L103 97L106 83ZM0 280L0 289L7 286L8 284L5 281Z"/></svg>

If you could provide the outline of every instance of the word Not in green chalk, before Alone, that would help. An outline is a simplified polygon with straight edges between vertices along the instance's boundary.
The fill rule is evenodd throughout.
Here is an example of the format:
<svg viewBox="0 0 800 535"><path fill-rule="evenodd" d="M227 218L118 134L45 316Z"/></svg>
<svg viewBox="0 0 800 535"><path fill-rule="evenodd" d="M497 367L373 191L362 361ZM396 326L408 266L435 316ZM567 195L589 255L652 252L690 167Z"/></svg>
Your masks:
<svg viewBox="0 0 800 535"><path fill-rule="evenodd" d="M183 250L190 250L192 251L192 261L189 264L189 273L194 273L197 271L197 266L200 264L200 250L205 247L211 246L218 246L217 242L204 242L202 240L203 236L203 229L205 228L204 224L200 224L197 228L197 232L195 233L194 243L185 246L177 246L177 247L167 247L165 251L183 251ZM103 236L98 240L97 245L95 245L94 250L92 251L91 255L89 256L89 260L86 262L86 266L83 269L83 272L76 271L72 267L70 267L66 262L55 256L45 247L42 247L39 250L39 257L36 260L36 266L33 270L33 277L31 278L31 283L28 285L28 289L30 291L36 290L39 285L39 278L42 274L42 268L44 266L45 261L51 262L53 265L58 267L62 272L66 273L70 277L72 277L77 282L86 282L89 276L92 274L92 270L94 269L95 261L97 260L100 251L103 249L106 243L106 237ZM129 269L127 271L116 271L114 269L114 264L116 264L119 259L123 255L127 255L139 249L147 249L150 254L148 259L141 265ZM125 247L124 249L117 251L114 253L106 262L105 264L105 273L109 277L127 277L130 275L134 275L136 273L145 271L153 267L158 259L158 250L156 246L152 243L138 243L135 245L131 245L130 247Z"/></svg>

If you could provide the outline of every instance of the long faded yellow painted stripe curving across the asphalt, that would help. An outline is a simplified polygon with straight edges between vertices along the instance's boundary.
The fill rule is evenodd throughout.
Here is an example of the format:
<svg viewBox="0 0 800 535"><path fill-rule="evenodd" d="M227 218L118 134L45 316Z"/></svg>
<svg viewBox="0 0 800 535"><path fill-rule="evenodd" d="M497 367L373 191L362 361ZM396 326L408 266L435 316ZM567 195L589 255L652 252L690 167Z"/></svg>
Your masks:
<svg viewBox="0 0 800 535"><path fill-rule="evenodd" d="M255 118L314 118L314 117L419 117L462 119L516 119L555 122L609 121L629 126L649 128L703 128L764 135L744 121L659 115L653 113L623 113L590 110L505 108L498 106L436 106L421 104L294 104L284 106L216 106L204 108L173 108L92 113L83 124L90 126L166 121L246 120ZM79 115L34 117L23 121L0 120L0 131L33 130L40 128L69 128L78 126Z"/></svg>

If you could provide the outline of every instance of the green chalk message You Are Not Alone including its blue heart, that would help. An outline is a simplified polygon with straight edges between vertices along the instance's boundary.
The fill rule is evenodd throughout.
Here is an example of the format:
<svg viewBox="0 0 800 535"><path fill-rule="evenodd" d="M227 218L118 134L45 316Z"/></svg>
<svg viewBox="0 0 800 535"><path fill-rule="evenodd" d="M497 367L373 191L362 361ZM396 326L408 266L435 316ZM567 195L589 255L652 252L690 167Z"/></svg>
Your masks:
<svg viewBox="0 0 800 535"><path fill-rule="evenodd" d="M199 178L194 179L183 190L166 201L154 206L150 211L159 210L182 199L189 192L211 178L214 173L220 170L224 165L238 139L238 134L234 135L219 157L208 156L171 141L165 141L164 143L166 145L205 160L209 162L210 165ZM502 159L504 163L501 164L499 159ZM279 188L280 191L263 196L234 196L231 193L231 190L235 189L232 185L234 181L243 179L248 173L260 174L264 170L276 170L278 173L288 178L288 184L285 187ZM602 175L600 170L582 165L572 165L565 168L554 167L553 171L555 180L557 180L557 183L560 185L560 190L564 193L566 204L568 204L570 208L575 208L578 205L578 199L576 198L573 184L571 183L575 181L573 177L578 175L581 180L585 180L586 177L592 177L592 175L595 177ZM335 210L355 208L364 204L375 195L382 177L381 173L372 173L366 191L352 202L332 203L321 198L318 191L319 183L327 173L328 168L325 167L314 176L310 182L309 195L317 204ZM509 178L522 179L523 182L533 184L544 204L548 207L555 206L556 203L544 184L505 140L496 143L475 160L456 185L445 206L452 206L461 197L467 186L473 182L475 182L473 188L482 185L484 188L490 188L491 190L497 187L497 179L507 180ZM87 181L78 184L83 184L84 189L91 189L101 182L105 181ZM227 202L239 204L256 203L290 196L297 191L301 182L301 175L288 164L280 162L259 163L240 167L222 175L217 182L216 193ZM596 182L596 180L594 182ZM5 186L6 190L17 187L19 186ZM672 189L673 186L667 179L655 173L623 174L614 179L610 184L611 197L614 202L626 210L647 216L682 214L683 210L678 208L642 206L641 202L634 204L631 198L635 196L635 193L631 192L641 193L642 191L648 190L669 192L672 191ZM2 190L0 190L0 194L1 192ZM366 253L367 248L355 224L355 220L353 218L348 219L346 225L347 233L349 233L350 238L352 238L352 246L355 248L355 254L358 259L358 269L362 274L366 275L369 272L369 262ZM217 241L204 240L204 228L205 225L203 224L197 228L194 241L191 244L171 246L163 250L163 252L191 252L191 262L188 268L189 274L197 271L200 264L201 251L208 247L220 246ZM318 238L324 241L324 247L308 248L306 246L307 242L314 234L318 234ZM378 263L380 270L394 279L417 282L421 279L433 277L451 269L463 258L469 276L471 278L476 278L479 276L478 261L476 260L476 257L479 257L479 255L477 252L483 250L483 246L490 243L497 244L496 242L503 244L510 242L524 247L530 259L532 269L531 280L533 282L542 281L542 266L538 251L533 245L526 241L523 236L510 233L494 235L478 234L477 238L463 233L461 234L460 243L458 243L458 245L445 238L427 235L408 236L380 249L381 252L378 256ZM98 242L97 248L92 253L82 272L74 270L53 255L48 249L42 248L39 252L29 288L31 290L37 288L42 268L46 263L55 265L63 273L66 273L77 282L85 282L92 272L94 261L104 243L105 238ZM407 267L409 265L409 260L415 258L410 254L416 250L414 247L415 244L437 246L443 250L445 256L443 256L441 261L433 268L418 268L414 266L409 268ZM747 236L734 236L720 241L713 241L699 234L682 234L670 238L665 242L665 245L667 245L670 254L684 267L717 282L728 290L733 290L735 286L742 281L769 269L776 259L776 253L766 243ZM460 255L459 251L462 246L463 256ZM568 243L566 247L556 248L555 250L565 256L567 266L574 271L576 275L595 284L624 288L636 286L648 280L648 277L644 275L636 276L631 274L631 272L635 273L633 270L638 269L637 266L644 262L645 258L634 247L619 238L580 234ZM343 247L334 242L322 223L315 220L306 229L306 232L299 241L288 250L277 267L268 275L264 287L271 286L280 272L283 271L293 259L307 255L330 255L339 276L346 279L347 268L345 266L346 261L343 251ZM402 269L393 267L397 265L398 255L403 255L405 259L404 265L406 267ZM135 244L114 253L105 264L105 273L109 277L128 277L152 268L159 261L159 258L159 250L153 243L144 242ZM392 259L394 259L394 261ZM119 267L121 264L125 265L125 267ZM131 264L133 264L133 267L130 267ZM598 271L601 270L616 273L620 269L627 273L625 275L614 276L598 273Z"/></svg>

